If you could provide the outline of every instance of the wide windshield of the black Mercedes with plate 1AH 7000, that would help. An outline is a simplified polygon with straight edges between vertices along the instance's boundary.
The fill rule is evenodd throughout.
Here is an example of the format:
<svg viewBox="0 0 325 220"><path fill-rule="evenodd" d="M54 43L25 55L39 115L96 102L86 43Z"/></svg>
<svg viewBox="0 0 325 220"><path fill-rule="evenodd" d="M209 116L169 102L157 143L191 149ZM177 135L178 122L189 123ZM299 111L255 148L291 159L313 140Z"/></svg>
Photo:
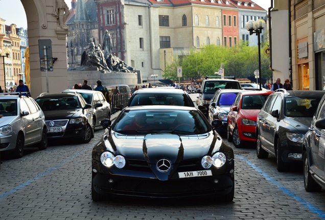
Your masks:
<svg viewBox="0 0 325 220"><path fill-rule="evenodd" d="M124 112L112 130L125 134L176 133L191 135L211 131L211 126L198 111L155 109Z"/></svg>

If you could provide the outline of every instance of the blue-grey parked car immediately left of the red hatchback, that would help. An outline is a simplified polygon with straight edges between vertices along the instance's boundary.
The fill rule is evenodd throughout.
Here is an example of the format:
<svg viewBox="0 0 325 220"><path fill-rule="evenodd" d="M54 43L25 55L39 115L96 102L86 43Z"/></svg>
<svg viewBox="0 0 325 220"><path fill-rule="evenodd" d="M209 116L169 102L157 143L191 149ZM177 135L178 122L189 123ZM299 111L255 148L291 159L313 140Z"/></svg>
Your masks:
<svg viewBox="0 0 325 220"><path fill-rule="evenodd" d="M223 125L218 128L219 133L226 133L230 106L233 105L237 94L242 91L239 89L218 90L212 97L208 106L208 121L212 122L215 119L223 121Z"/></svg>

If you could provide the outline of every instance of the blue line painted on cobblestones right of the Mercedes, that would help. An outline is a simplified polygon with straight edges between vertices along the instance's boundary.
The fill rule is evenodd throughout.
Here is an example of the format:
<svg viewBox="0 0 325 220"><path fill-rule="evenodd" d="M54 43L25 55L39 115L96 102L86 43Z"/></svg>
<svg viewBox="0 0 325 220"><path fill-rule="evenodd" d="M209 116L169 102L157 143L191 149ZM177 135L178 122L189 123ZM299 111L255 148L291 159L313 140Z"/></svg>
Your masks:
<svg viewBox="0 0 325 220"><path fill-rule="evenodd" d="M309 202L306 202L303 198L300 198L298 196L296 196L292 191L290 191L288 188L284 187L281 185L281 183L279 183L278 181L274 180L272 177L270 177L267 173L265 173L264 171L262 171L259 167L257 167L254 163L250 162L248 159L246 159L245 157L243 157L242 155L238 155L236 154L236 156L245 161L250 167L252 167L256 172L258 172L259 174L261 174L262 176L265 177L265 179L267 181L270 181L272 184L274 184L278 189L280 189L281 191L283 191L283 193L287 194L288 196L294 198L295 200L297 200L299 203L301 203L302 205L304 205L307 209L309 209L310 211L316 213L319 217L325 219L325 214L319 210L317 207L313 206L312 204L310 204Z"/></svg>

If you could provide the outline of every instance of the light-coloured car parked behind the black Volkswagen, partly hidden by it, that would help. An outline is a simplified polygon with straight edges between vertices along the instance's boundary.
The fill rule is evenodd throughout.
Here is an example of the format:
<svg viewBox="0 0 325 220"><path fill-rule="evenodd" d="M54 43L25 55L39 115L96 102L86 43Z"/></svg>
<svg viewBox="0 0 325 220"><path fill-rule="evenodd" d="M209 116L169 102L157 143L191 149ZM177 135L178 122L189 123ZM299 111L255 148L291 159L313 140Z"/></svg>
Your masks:
<svg viewBox="0 0 325 220"><path fill-rule="evenodd" d="M64 90L63 93L80 93L87 104L91 105L92 125L95 127L102 126L100 122L104 119L110 119L110 104L106 101L104 95L100 91L95 90Z"/></svg>

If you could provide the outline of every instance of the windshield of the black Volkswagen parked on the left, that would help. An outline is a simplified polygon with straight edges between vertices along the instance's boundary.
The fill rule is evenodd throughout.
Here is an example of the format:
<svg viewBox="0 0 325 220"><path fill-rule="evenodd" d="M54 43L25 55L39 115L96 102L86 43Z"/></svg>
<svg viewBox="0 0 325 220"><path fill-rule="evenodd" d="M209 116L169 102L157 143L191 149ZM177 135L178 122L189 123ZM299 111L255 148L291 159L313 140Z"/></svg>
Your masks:
<svg viewBox="0 0 325 220"><path fill-rule="evenodd" d="M36 99L43 112L80 108L77 96Z"/></svg>

